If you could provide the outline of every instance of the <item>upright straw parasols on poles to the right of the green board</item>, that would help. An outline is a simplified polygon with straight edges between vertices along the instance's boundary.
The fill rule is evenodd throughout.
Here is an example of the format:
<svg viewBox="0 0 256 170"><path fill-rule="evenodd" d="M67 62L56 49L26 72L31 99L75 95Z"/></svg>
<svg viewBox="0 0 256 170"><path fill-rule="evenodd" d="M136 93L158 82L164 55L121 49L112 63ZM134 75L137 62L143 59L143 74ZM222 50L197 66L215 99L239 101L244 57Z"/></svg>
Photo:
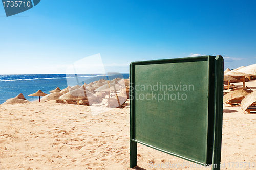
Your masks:
<svg viewBox="0 0 256 170"><path fill-rule="evenodd" d="M245 76L256 76L256 64L249 65L247 67L241 66L239 68L230 70L229 68L224 71L224 81L228 81L228 89L229 89L229 81L236 81L236 78L232 76L242 76L243 77L243 89L245 89Z"/></svg>

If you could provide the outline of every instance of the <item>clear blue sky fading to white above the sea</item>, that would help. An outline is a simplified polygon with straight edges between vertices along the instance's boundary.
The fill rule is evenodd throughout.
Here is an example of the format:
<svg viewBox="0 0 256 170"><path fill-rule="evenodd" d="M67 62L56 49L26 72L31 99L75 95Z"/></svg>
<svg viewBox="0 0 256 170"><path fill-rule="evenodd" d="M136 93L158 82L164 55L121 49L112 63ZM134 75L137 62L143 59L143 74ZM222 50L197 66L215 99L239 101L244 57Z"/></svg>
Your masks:
<svg viewBox="0 0 256 170"><path fill-rule="evenodd" d="M107 72L132 61L222 55L224 69L256 63L256 1L41 0L6 17L0 74L65 73L100 54Z"/></svg>

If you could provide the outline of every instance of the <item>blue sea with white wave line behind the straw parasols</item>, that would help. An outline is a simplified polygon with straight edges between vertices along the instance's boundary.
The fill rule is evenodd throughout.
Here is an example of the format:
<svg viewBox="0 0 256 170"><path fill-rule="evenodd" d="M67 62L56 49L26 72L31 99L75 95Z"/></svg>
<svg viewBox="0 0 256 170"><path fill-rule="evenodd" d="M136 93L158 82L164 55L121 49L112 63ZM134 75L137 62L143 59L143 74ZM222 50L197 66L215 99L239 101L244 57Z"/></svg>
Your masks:
<svg viewBox="0 0 256 170"><path fill-rule="evenodd" d="M28 96L38 90L46 94L49 91L59 87L61 90L68 85L83 85L90 82L105 79L113 80L114 78L129 78L129 74L112 73L112 74L24 74L24 75L0 75L0 104L7 99L16 97L22 93L29 101L38 100L38 97Z"/></svg>

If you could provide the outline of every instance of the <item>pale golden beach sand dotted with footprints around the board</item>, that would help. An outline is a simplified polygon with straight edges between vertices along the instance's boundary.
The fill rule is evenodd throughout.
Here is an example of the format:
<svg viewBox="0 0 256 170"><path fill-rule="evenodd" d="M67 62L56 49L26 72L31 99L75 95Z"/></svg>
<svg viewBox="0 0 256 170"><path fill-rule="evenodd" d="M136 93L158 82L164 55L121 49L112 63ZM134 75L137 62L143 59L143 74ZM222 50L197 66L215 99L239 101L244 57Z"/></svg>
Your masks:
<svg viewBox="0 0 256 170"><path fill-rule="evenodd" d="M221 169L252 169L248 163L256 164L256 114L246 115L241 106L228 104L223 109ZM2 169L130 169L129 108L92 116L90 107L81 105L0 105L0 125ZM134 169L211 169L187 167L185 163L193 163L141 144L137 153ZM231 168L232 162L243 162L243 167Z"/></svg>

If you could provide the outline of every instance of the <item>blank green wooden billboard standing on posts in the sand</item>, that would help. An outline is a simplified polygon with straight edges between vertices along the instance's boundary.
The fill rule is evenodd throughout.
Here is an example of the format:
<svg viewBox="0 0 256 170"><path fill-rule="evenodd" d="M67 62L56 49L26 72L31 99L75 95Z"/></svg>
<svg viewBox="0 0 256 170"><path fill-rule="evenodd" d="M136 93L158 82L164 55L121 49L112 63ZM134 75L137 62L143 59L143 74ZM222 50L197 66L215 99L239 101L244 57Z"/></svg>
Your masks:
<svg viewBox="0 0 256 170"><path fill-rule="evenodd" d="M132 62L130 74L131 164L135 165L136 143L212 164L217 136L221 143L222 123L216 122L215 114L222 116L216 96L223 94L218 86L223 83L223 58Z"/></svg>

